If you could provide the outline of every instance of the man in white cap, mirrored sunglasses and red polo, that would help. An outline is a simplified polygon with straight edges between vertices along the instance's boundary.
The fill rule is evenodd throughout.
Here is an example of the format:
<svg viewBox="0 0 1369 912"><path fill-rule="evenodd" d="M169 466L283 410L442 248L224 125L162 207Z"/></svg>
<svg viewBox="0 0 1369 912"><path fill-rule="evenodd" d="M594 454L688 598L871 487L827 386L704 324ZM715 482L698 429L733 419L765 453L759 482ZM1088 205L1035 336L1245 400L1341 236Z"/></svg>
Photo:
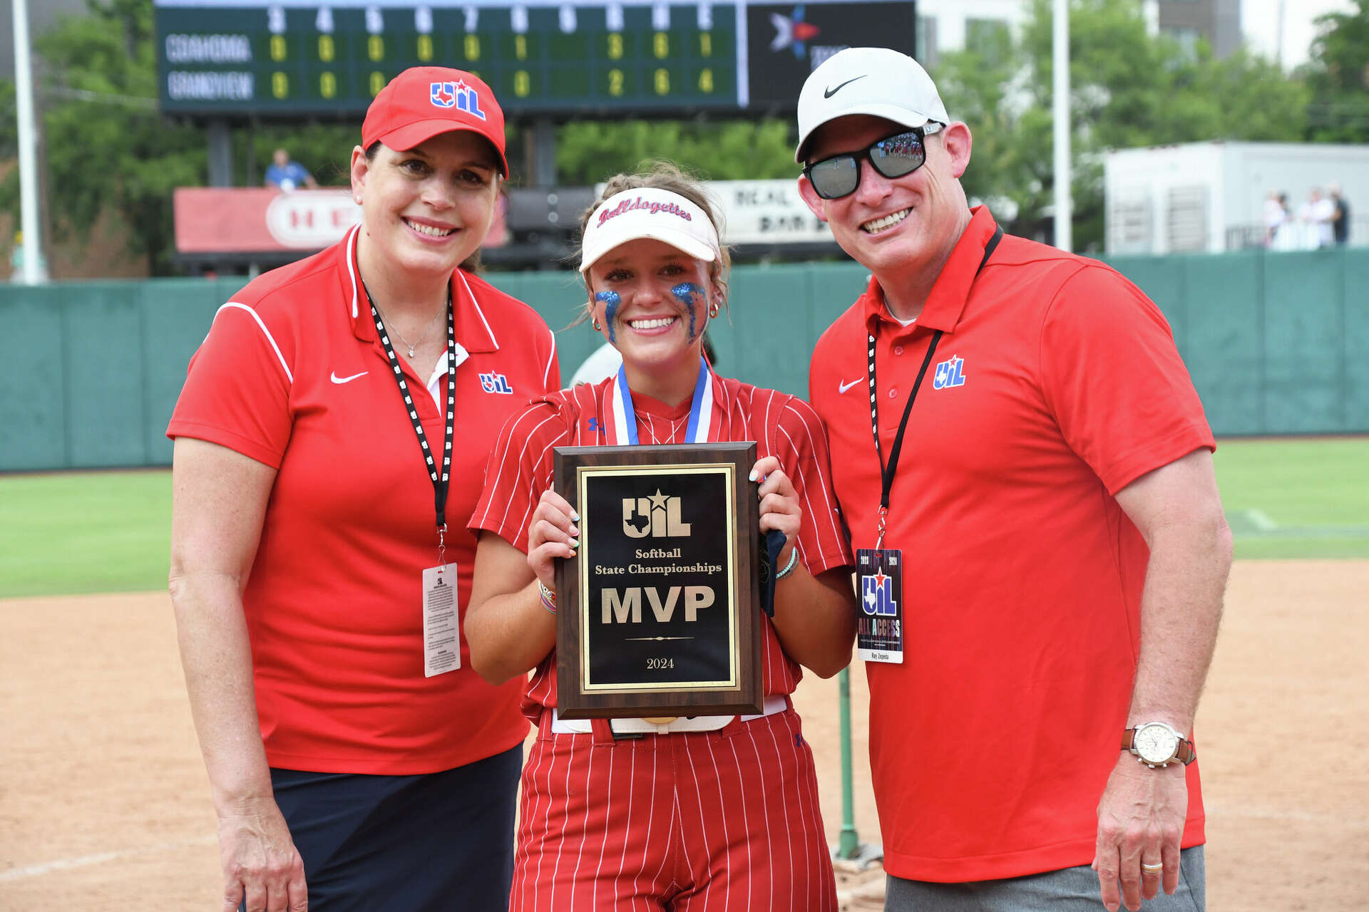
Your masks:
<svg viewBox="0 0 1369 912"><path fill-rule="evenodd" d="M857 550L886 908L1202 909L1213 435L1160 309L971 208L971 149L895 51L798 98L799 191L872 273L809 398Z"/></svg>

